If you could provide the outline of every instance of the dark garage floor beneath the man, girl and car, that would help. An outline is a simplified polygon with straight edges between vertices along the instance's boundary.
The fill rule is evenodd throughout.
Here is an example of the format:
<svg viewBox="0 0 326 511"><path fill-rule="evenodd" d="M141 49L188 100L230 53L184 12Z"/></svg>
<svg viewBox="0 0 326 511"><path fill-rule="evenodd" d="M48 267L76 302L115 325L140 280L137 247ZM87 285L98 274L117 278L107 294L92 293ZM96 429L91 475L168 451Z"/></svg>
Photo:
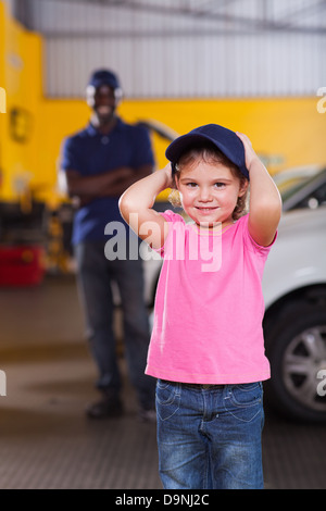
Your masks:
<svg viewBox="0 0 326 511"><path fill-rule="evenodd" d="M74 277L0 289L0 488L160 489L155 426L138 421L127 377L123 417L85 417L98 395ZM263 452L267 489L326 488L326 426L266 408Z"/></svg>

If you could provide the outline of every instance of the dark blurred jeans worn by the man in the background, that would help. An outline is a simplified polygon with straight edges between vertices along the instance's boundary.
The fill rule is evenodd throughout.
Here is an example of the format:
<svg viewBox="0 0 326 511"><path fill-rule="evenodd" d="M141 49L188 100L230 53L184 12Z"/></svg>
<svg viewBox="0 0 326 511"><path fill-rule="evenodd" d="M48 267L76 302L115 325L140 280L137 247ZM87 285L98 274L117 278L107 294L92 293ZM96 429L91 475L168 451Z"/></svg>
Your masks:
<svg viewBox="0 0 326 511"><path fill-rule="evenodd" d="M117 285L123 310L124 347L130 382L141 408L154 408L155 381L145 375L149 345L149 320L143 300L141 260L110 261L103 242L82 242L75 247L77 283L84 308L87 338L97 363L97 387L116 395L122 387L116 360L111 283Z"/></svg>

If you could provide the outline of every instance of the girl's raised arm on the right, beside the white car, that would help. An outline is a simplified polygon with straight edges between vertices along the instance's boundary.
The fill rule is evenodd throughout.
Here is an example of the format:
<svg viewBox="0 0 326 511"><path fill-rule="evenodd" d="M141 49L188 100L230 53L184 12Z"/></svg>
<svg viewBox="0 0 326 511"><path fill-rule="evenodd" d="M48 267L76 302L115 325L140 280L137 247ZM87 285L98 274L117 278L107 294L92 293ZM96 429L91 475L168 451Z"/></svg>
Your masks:
<svg viewBox="0 0 326 511"><path fill-rule="evenodd" d="M249 138L240 133L237 135L244 146L246 166L250 175L249 233L256 244L267 247L275 238L280 220L280 195Z"/></svg>

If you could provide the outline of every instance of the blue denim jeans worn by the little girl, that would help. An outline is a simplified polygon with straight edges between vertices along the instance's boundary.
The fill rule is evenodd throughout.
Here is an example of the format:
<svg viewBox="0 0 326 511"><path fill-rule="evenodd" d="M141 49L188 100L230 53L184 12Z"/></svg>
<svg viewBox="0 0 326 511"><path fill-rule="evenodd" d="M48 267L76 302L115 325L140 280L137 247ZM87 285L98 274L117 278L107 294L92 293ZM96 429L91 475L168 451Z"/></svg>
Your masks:
<svg viewBox="0 0 326 511"><path fill-rule="evenodd" d="M263 388L156 384L165 489L262 489Z"/></svg>

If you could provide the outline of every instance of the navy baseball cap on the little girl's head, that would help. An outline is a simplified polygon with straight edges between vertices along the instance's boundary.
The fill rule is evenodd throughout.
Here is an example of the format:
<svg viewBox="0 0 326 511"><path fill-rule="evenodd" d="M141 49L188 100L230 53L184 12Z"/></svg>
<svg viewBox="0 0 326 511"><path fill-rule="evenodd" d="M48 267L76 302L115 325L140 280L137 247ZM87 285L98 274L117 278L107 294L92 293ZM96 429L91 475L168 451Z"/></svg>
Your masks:
<svg viewBox="0 0 326 511"><path fill-rule="evenodd" d="M235 165L243 176L249 179L249 172L246 166L244 147L240 138L235 132L231 132L218 124L205 124L186 135L176 138L166 149L165 155L172 163L172 171L175 172L175 165L183 153L191 149L193 144L209 141L222 151Z"/></svg>

